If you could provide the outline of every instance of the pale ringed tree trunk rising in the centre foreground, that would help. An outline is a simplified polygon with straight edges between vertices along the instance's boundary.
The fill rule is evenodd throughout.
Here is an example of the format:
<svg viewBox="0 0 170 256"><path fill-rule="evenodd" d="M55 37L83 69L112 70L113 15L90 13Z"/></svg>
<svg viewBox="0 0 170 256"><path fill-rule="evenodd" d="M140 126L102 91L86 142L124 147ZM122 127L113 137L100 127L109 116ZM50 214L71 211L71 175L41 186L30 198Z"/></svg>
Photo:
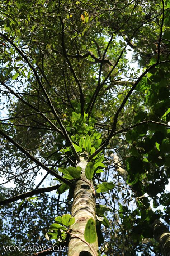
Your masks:
<svg viewBox="0 0 170 256"><path fill-rule="evenodd" d="M69 253L68 256L97 256L98 242L88 244L84 238L84 231L87 221L93 218L95 221L95 190L93 182L86 179L85 168L87 161L80 157L77 167L82 168L81 179L76 183L74 199L72 204L72 217L75 223L71 225Z"/></svg>

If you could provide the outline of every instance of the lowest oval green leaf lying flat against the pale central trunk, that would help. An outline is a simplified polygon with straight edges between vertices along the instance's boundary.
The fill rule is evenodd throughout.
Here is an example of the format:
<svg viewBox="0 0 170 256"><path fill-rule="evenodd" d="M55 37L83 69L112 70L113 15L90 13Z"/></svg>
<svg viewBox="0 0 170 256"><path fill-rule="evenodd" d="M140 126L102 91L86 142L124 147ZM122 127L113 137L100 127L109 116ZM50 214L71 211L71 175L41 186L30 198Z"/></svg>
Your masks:
<svg viewBox="0 0 170 256"><path fill-rule="evenodd" d="M84 238L88 243L94 243L97 240L96 224L93 218L90 218L86 224Z"/></svg>

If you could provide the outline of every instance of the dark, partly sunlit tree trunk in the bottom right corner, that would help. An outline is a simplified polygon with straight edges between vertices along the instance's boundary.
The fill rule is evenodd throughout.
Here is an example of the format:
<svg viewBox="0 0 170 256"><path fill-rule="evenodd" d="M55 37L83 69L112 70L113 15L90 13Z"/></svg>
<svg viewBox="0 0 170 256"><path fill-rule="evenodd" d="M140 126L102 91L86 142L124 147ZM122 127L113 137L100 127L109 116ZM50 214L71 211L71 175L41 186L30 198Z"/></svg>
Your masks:
<svg viewBox="0 0 170 256"><path fill-rule="evenodd" d="M155 239L159 242L164 256L170 256L170 232L160 221L155 220L152 224Z"/></svg>

